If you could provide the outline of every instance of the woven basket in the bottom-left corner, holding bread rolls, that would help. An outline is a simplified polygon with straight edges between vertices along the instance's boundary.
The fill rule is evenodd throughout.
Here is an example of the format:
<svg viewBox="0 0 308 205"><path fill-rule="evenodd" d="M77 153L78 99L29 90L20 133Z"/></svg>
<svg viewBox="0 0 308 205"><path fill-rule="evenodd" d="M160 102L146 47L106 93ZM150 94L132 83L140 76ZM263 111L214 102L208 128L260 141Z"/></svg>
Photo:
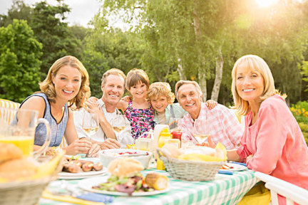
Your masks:
<svg viewBox="0 0 308 205"><path fill-rule="evenodd" d="M38 159L38 161L43 161ZM23 182L0 183L1 205L35 205L38 204L41 194L49 182L56 180L58 172L63 167L63 157L58 162L58 167L51 176L42 179L28 180Z"/></svg>

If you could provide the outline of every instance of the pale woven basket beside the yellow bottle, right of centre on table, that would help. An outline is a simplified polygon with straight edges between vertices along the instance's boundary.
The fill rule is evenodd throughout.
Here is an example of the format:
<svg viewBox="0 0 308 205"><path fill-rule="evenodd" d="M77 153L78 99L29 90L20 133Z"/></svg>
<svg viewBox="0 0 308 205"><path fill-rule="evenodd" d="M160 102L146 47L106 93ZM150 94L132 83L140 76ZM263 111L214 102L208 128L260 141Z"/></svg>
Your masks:
<svg viewBox="0 0 308 205"><path fill-rule="evenodd" d="M215 178L218 170L225 161L222 162L200 162L169 157L160 148L157 149L160 159L163 161L166 171L175 179L186 181L211 181ZM161 153L163 153L164 157Z"/></svg>

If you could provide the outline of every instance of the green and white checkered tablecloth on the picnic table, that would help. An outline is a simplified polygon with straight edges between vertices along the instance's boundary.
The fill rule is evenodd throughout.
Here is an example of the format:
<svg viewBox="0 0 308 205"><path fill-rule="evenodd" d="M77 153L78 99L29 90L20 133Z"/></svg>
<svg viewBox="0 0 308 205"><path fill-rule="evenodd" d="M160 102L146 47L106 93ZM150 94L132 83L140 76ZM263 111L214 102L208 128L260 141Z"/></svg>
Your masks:
<svg viewBox="0 0 308 205"><path fill-rule="evenodd" d="M234 172L233 175L217 174L215 180L211 182L188 182L173 179L168 172L157 169L147 169L142 172L159 172L165 174L169 178L170 191L164 194L152 196L115 196L111 205L119 204L237 204L242 197L254 186L258 179L255 172L245 170ZM68 180L70 184L77 186L79 180ZM51 183L48 189L59 189ZM41 199L39 205L64 205L68 203L53 201L49 199Z"/></svg>

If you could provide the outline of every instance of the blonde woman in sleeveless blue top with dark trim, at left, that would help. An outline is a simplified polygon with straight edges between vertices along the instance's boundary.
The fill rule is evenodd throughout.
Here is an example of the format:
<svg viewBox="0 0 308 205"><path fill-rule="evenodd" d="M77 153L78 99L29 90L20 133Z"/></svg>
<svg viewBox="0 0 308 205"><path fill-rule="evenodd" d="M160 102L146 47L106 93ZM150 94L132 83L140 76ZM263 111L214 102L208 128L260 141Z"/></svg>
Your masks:
<svg viewBox="0 0 308 205"><path fill-rule="evenodd" d="M97 144L88 140L78 140L73 122L73 105L81 108L86 98L91 95L88 72L83 64L73 56L59 58L48 71L43 82L39 83L41 91L30 95L21 107L37 110L39 117L48 120L51 126L51 143L49 147L59 146L63 135L68 147L64 147L66 154L88 153L96 155L100 149ZM38 149L45 142L46 129L43 125L36 127L34 149Z"/></svg>

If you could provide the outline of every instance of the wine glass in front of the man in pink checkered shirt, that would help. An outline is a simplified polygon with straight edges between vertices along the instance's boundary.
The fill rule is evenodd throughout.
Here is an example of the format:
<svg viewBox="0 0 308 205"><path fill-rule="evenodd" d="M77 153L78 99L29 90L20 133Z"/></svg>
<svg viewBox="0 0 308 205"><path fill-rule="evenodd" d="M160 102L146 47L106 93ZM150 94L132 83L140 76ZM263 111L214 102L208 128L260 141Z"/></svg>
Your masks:
<svg viewBox="0 0 308 205"><path fill-rule="evenodd" d="M206 119L196 119L193 127L193 136L199 144L202 144L210 137L209 121Z"/></svg>

